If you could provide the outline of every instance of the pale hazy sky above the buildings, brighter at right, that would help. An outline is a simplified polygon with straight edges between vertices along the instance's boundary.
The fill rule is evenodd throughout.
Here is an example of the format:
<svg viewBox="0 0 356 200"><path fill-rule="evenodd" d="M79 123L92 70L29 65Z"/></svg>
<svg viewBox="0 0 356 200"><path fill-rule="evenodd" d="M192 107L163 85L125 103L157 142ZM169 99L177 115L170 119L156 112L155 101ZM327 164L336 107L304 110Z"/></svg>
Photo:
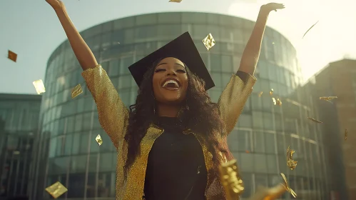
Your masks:
<svg viewBox="0 0 356 200"><path fill-rule="evenodd" d="M356 59L355 0L63 0L79 31L113 19L165 11L228 14L255 21L260 6L269 2L285 4L285 9L271 12L267 25L295 46L305 80L331 61ZM32 82L44 80L49 56L65 39L45 0L1 0L0 93L36 94ZM8 50L18 54L16 63L7 59Z"/></svg>

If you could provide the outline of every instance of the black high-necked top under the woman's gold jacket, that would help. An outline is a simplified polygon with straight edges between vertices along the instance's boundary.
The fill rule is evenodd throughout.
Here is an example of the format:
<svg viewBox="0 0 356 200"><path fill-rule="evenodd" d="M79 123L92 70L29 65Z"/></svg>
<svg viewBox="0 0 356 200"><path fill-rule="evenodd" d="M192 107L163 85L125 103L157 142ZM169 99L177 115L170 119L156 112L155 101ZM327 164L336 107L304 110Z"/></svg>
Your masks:
<svg viewBox="0 0 356 200"><path fill-rule="evenodd" d="M148 155L147 200L205 200L208 173L203 149L193 134L183 134L177 118L159 117L164 129Z"/></svg>

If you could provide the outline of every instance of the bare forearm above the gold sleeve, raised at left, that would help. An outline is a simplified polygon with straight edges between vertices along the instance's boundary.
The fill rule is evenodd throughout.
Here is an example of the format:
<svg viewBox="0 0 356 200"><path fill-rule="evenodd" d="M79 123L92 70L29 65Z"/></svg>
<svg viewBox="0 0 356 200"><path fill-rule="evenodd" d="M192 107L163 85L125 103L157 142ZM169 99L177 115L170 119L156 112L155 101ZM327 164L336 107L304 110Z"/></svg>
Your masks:
<svg viewBox="0 0 356 200"><path fill-rule="evenodd" d="M93 52L86 44L86 42L81 37L81 34L76 30L76 26L71 22L69 18L66 7L60 0L46 0L49 3L59 18L64 31L66 32L71 48L73 49L76 59L78 59L79 64L83 70L94 68L98 65Z"/></svg>

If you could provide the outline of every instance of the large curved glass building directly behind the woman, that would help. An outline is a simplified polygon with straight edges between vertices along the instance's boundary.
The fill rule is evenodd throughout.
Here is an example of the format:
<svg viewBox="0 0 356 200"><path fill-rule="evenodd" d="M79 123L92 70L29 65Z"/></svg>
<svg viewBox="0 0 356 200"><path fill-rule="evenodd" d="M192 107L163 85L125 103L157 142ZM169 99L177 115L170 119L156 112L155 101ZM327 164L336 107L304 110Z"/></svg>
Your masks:
<svg viewBox="0 0 356 200"><path fill-rule="evenodd" d="M220 14L172 12L108 21L81 35L129 106L134 103L138 88L128 66L189 31L215 81L216 86L208 93L218 101L231 74L238 70L254 24ZM202 40L209 33L216 44L207 51ZM37 138L49 141L49 146L39 142L36 151L38 162L46 166L34 174L41 178L32 184L32 199L49 199L44 188L56 181L68 187L60 199L115 199L116 150L101 129L81 71L71 46L64 41L51 55L46 70L47 91ZM243 197L253 194L258 185L279 184L283 172L296 192L312 191L318 199L325 199L328 192L320 131L303 116L311 111L311 105L302 105L298 99L284 100L302 81L296 52L284 36L269 27L255 76L258 81L253 94L229 136L230 150L238 159L246 186ZM71 89L77 84L83 86L83 94L71 99ZM273 96L282 99L283 106L273 106L270 89L274 89ZM264 92L261 97L260 91ZM101 146L95 141L98 134L103 139ZM297 151L299 162L294 171L286 165L288 146ZM284 198L290 196L285 194Z"/></svg>

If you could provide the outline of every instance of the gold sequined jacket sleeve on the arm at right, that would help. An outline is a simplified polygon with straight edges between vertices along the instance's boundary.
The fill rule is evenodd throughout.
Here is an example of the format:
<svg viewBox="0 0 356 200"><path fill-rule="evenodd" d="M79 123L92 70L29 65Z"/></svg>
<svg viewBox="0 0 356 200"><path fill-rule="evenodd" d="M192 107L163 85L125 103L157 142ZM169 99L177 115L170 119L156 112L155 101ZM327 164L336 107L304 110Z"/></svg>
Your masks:
<svg viewBox="0 0 356 200"><path fill-rule="evenodd" d="M230 134L243 111L243 106L253 91L255 77L243 71L233 74L218 101L220 116L225 122L226 134Z"/></svg>

